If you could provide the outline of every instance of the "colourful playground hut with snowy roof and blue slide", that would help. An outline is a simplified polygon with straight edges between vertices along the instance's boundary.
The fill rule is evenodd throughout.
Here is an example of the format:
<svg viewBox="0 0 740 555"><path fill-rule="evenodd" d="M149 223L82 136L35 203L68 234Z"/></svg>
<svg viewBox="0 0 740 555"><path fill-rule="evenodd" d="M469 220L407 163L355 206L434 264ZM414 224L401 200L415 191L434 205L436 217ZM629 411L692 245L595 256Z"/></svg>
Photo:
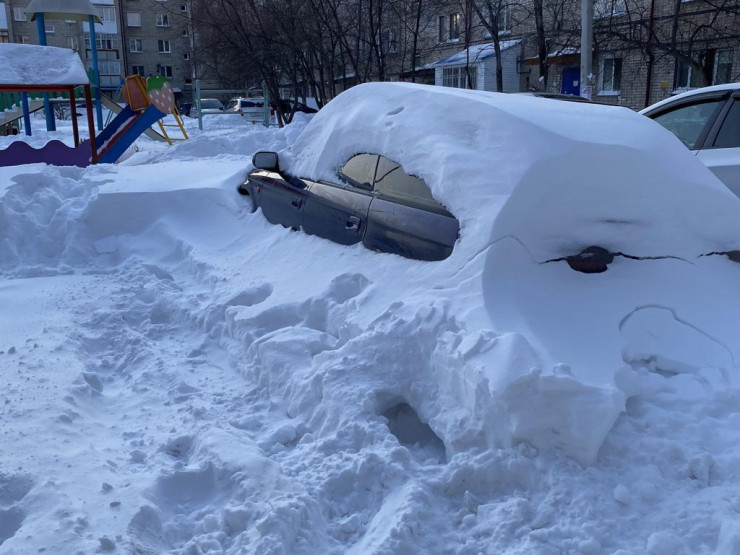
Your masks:
<svg viewBox="0 0 740 555"><path fill-rule="evenodd" d="M84 90L87 124L90 138L80 141L77 123L75 90ZM0 166L16 166L35 162L46 162L58 166L80 166L112 163L155 123L161 133L158 137L172 144L162 119L168 114L174 116L182 138L188 135L182 118L175 105L175 97L170 84L164 77L149 77L146 82L138 75L126 78L123 96L126 106L109 101L106 106L117 111L118 115L95 136L91 85L79 56L64 48L32 46L19 44L0 44L0 93L21 93L23 117L30 131L31 104L28 93L64 93L69 98L72 117L74 147L60 141L51 141L41 148L33 148L24 141L15 141L5 150L0 150ZM38 101L37 101L38 102ZM42 105L35 106L40 109ZM6 112L7 113L7 112ZM8 121L3 122L5 124Z"/></svg>

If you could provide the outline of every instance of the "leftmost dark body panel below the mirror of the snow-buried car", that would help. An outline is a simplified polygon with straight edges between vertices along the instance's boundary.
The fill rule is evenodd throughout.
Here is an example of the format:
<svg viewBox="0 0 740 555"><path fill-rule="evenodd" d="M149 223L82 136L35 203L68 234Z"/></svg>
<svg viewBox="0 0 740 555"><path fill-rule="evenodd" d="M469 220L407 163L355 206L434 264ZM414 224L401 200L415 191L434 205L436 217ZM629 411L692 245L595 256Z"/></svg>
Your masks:
<svg viewBox="0 0 740 555"><path fill-rule="evenodd" d="M256 204L270 223L281 224L291 229L301 227L303 206L308 194L306 183L294 177L278 173L258 171L249 176L257 197Z"/></svg>

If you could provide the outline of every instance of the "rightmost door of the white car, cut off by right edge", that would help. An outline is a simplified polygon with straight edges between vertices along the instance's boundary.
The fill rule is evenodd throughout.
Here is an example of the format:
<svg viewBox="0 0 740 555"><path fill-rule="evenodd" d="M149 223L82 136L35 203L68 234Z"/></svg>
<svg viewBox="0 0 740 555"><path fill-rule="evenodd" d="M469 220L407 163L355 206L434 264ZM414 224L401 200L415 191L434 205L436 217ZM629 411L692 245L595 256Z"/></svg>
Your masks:
<svg viewBox="0 0 740 555"><path fill-rule="evenodd" d="M740 196L740 93L717 118L697 157L727 187Z"/></svg>

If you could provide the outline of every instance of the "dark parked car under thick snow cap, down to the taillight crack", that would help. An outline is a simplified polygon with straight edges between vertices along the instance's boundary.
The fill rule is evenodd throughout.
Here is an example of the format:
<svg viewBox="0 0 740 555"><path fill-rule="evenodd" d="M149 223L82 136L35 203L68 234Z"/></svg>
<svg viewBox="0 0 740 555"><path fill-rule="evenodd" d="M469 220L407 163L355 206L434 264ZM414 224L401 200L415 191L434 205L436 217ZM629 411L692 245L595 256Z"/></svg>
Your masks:
<svg viewBox="0 0 740 555"><path fill-rule="evenodd" d="M367 83L252 163L239 192L269 222L412 259L471 260L507 239L538 264L598 274L734 256L740 237L740 199L666 130L590 102Z"/></svg>

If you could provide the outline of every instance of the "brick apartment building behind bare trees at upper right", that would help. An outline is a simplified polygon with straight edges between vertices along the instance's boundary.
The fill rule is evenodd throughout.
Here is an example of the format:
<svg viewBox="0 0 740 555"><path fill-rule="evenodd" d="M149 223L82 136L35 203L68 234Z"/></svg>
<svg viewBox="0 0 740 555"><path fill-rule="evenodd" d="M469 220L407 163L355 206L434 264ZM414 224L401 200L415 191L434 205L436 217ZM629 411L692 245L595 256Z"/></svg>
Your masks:
<svg viewBox="0 0 740 555"><path fill-rule="evenodd" d="M476 8L476 3L477 7ZM492 31L502 46L503 89L579 95L580 0L543 2L547 55L540 70L532 0L471 0L436 10L436 43L422 82L495 90ZM598 102L640 109L672 94L740 80L740 4L700 0L595 0L591 87ZM495 17L485 21L481 15ZM431 27L431 26L430 26ZM440 59L440 55L448 58ZM434 77L431 77L431 71ZM488 78L486 78L488 76ZM417 79L418 80L418 79Z"/></svg>

